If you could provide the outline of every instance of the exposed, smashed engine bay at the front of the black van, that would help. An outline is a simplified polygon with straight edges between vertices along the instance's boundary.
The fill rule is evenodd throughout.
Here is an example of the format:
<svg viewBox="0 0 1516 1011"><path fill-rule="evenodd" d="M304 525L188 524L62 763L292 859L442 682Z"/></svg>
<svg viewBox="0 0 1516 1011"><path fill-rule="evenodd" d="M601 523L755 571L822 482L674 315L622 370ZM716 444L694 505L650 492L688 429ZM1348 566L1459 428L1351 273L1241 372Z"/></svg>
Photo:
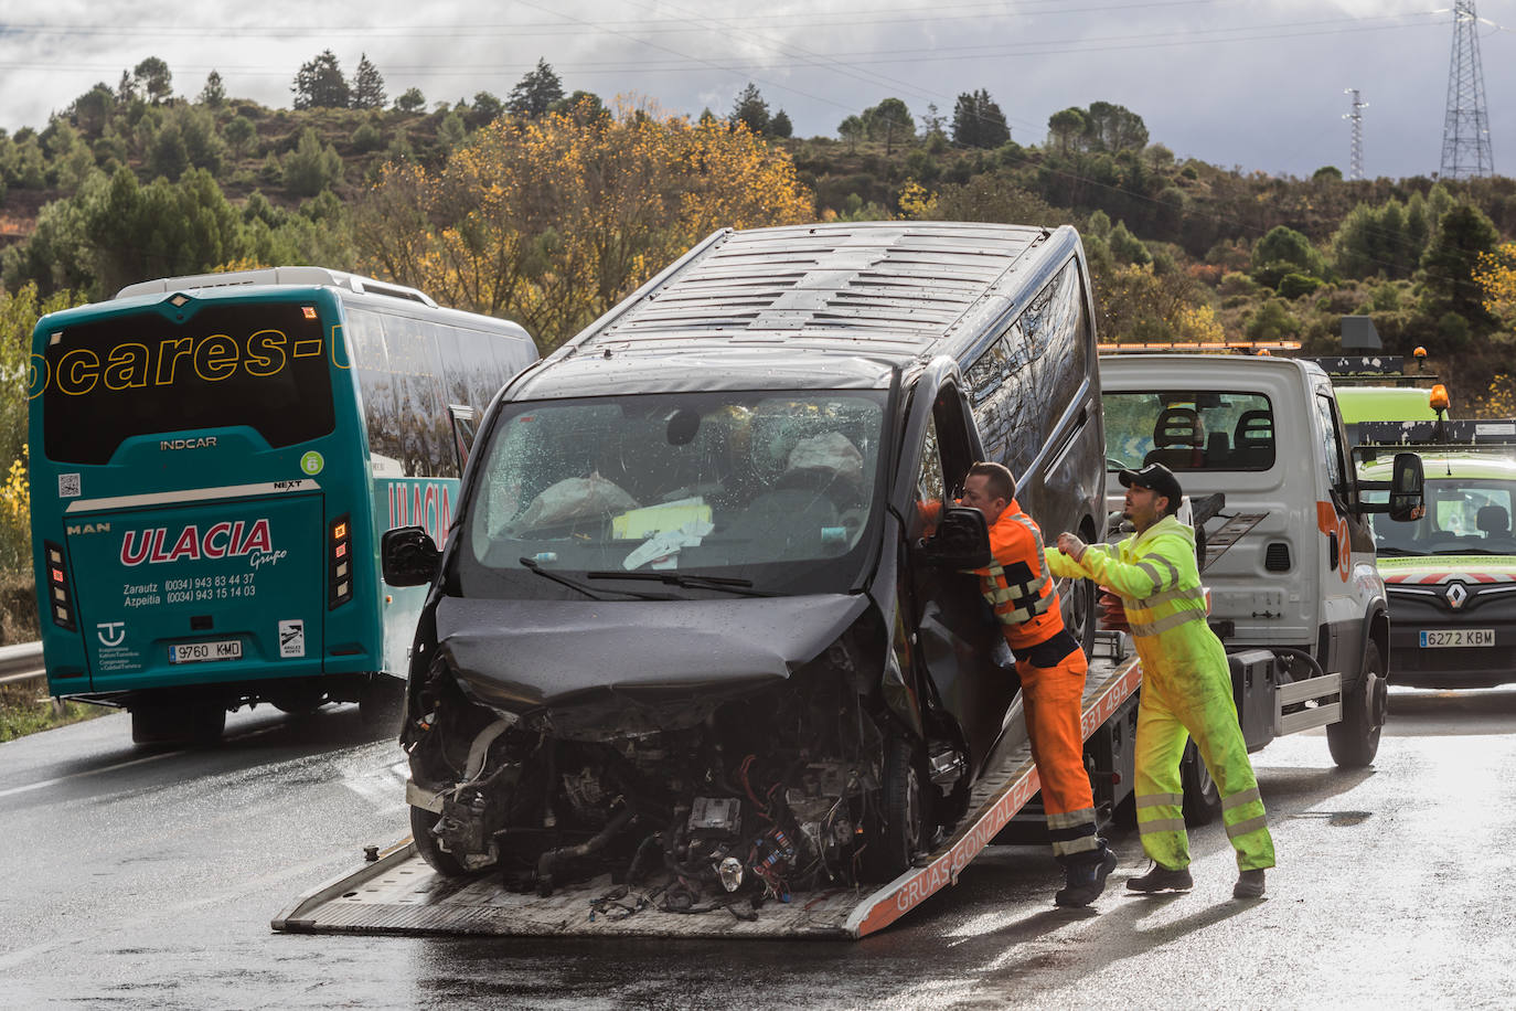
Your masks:
<svg viewBox="0 0 1516 1011"><path fill-rule="evenodd" d="M966 765L893 731L850 653L840 641L788 679L687 699L694 723L567 734L471 700L437 658L408 729L417 849L444 875L488 869L544 896L608 873L608 916L746 917L893 879L961 812Z"/></svg>

